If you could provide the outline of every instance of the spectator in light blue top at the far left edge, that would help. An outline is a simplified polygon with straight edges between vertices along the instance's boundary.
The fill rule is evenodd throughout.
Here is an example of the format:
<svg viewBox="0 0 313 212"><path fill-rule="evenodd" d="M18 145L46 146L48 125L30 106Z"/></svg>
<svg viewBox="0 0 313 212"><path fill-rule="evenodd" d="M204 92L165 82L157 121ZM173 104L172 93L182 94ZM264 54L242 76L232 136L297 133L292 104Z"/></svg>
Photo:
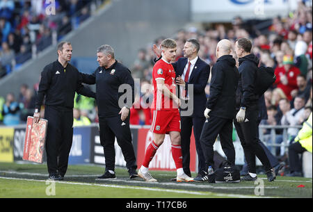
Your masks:
<svg viewBox="0 0 313 212"><path fill-rule="evenodd" d="M7 126L19 124L19 110L23 108L23 104L15 101L13 93L6 95L6 103L3 105L3 124Z"/></svg>

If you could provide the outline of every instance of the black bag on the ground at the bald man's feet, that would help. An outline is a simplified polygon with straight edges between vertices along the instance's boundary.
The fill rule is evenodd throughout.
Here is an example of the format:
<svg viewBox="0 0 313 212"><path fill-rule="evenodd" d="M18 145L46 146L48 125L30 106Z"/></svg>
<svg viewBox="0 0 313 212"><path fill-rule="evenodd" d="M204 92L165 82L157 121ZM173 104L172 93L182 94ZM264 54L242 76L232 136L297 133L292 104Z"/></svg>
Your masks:
<svg viewBox="0 0 313 212"><path fill-rule="evenodd" d="M214 172L216 184L222 183L239 183L240 172L228 161L223 161Z"/></svg>

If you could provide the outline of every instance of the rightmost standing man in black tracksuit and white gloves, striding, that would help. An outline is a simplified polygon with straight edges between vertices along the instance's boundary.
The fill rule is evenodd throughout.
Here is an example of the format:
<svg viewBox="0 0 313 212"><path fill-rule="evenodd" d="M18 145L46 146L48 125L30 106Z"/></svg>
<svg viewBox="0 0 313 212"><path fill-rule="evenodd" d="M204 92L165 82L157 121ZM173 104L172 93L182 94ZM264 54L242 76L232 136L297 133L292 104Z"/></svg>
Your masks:
<svg viewBox="0 0 313 212"><path fill-rule="evenodd" d="M259 59L254 54L250 54L251 48L252 44L246 38L236 41L235 51L239 57L240 79L236 91L237 113L234 125L246 156L249 171L249 174L242 179L248 181L257 179L255 167L255 156L257 156L264 165L268 181L273 181L275 173L273 168L271 168L271 163L268 161L264 149L259 144L257 134L259 95L256 95L254 90Z"/></svg>

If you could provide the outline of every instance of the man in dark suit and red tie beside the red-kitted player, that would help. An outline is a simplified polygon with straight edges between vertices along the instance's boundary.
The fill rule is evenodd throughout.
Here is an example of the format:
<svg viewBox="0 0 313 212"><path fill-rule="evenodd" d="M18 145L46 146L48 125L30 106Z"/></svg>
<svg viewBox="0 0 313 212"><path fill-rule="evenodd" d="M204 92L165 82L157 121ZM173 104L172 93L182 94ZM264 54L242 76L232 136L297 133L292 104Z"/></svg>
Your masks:
<svg viewBox="0 0 313 212"><path fill-rule="evenodd" d="M180 108L181 115L181 145L184 172L191 177L190 170L190 138L193 129L195 136L195 148L198 154L198 176L204 177L205 159L200 145L200 135L205 121L204 109L207 96L204 88L207 85L210 74L210 66L198 57L200 44L196 39L189 39L184 45L184 57L172 63L178 85L178 96L183 99ZM154 45L154 53L157 56L158 49ZM190 89L191 88L191 89ZM190 89L190 90L189 90Z"/></svg>

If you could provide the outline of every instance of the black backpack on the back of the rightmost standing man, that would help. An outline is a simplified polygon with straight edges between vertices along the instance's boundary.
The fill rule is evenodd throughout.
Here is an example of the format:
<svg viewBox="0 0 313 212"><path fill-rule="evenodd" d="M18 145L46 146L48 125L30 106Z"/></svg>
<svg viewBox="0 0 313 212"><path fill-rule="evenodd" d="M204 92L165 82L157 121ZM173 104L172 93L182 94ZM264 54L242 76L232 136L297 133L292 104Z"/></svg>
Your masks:
<svg viewBox="0 0 313 212"><path fill-rule="evenodd" d="M275 71L272 67L258 67L255 94L262 96L276 81Z"/></svg>

